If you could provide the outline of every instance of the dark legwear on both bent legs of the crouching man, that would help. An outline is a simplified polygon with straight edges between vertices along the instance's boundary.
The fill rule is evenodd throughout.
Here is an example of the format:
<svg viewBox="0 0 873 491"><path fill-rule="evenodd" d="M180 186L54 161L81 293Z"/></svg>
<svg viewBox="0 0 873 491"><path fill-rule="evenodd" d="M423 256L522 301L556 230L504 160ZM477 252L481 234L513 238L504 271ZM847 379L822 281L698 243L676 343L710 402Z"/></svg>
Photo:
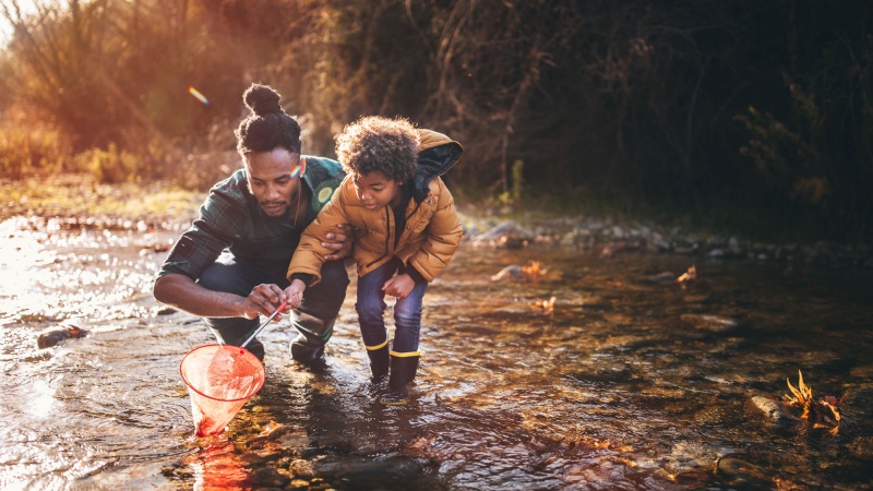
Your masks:
<svg viewBox="0 0 873 491"><path fill-rule="evenodd" d="M248 297L252 288L261 284L275 284L282 289L287 288L289 283L285 277L286 272L287 265L266 268L225 252L203 272L198 283L213 291ZM292 323L300 332L300 336L298 336L300 339L294 342L299 345L295 359L298 359L298 355L302 358L319 357L324 351L324 344L333 334L334 320L346 298L346 287L349 282L343 260L325 262L321 273L322 280L307 288L300 308L295 310ZM261 325L261 322L260 318L251 320L246 318L206 319L206 324L219 342L235 346L239 346L248 339ZM264 346L256 338L252 339L246 348L258 358L263 359ZM292 346L294 351L295 347ZM301 359L301 361L309 360Z"/></svg>

